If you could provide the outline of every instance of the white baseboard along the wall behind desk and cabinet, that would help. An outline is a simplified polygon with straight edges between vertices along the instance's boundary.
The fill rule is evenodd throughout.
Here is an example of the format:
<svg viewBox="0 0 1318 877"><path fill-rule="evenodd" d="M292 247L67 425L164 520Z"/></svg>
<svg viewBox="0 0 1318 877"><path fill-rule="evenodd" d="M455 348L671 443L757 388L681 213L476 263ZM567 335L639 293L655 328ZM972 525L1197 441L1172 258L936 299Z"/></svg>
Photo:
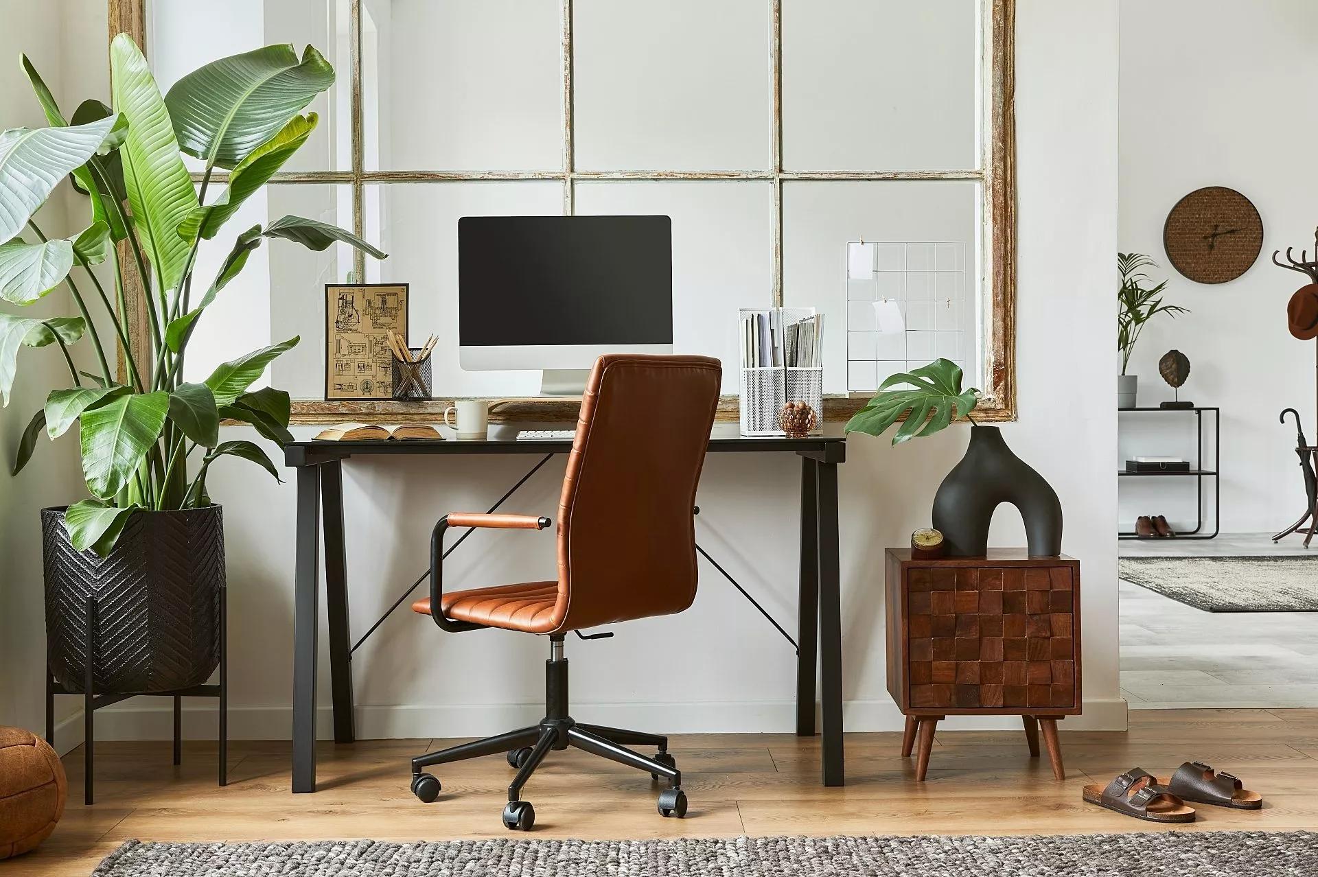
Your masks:
<svg viewBox="0 0 1318 877"><path fill-rule="evenodd" d="M358 706L357 737L387 740L406 737L469 737L500 733L519 724L535 724L539 703L480 706ZM796 726L796 706L791 701L743 701L709 703L577 703L573 714L585 722L617 727L655 730L663 733L708 732L791 732ZM1066 719L1069 731L1124 731L1126 701L1086 701L1085 714ZM900 731L904 718L892 701L847 701L844 723L847 731ZM820 726L816 719L816 727ZM948 730L1016 730L1016 716L949 716ZM289 706L231 706L231 740L287 740L293 728ZM82 714L55 727L61 753L82 743ZM215 702L185 702L183 736L188 740L215 739ZM96 712L98 740L167 740L173 733L173 707L167 702L124 703ZM316 733L333 736L333 716L322 701L316 711Z"/></svg>

